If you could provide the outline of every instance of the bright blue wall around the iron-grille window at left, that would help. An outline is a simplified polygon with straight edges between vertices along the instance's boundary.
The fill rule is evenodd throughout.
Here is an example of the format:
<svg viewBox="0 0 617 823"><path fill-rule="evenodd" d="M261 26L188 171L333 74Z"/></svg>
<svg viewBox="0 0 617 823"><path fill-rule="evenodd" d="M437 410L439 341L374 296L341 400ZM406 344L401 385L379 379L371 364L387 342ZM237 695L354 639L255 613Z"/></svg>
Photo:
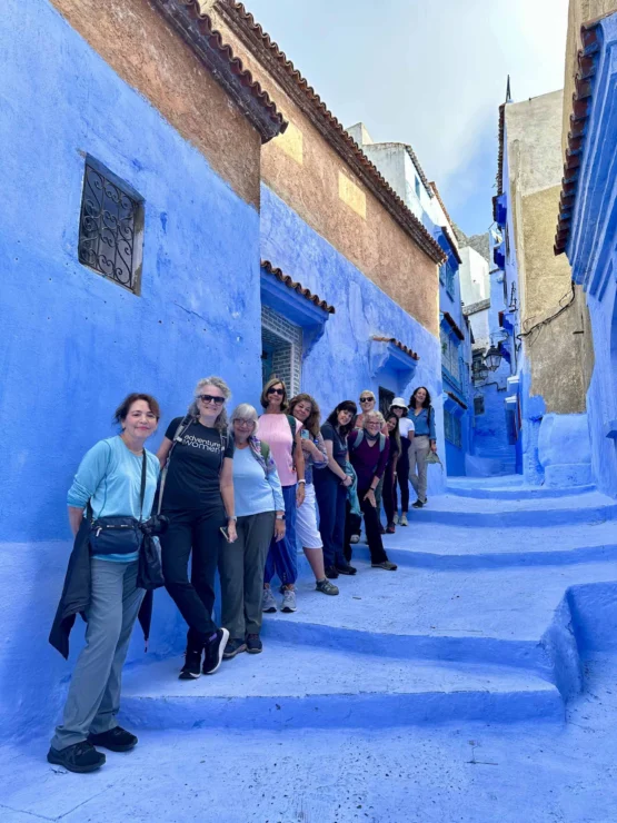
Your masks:
<svg viewBox="0 0 617 823"><path fill-rule="evenodd" d="M255 208L43 0L4 2L0 53L8 734L49 723L70 672L47 635L70 551L66 495L81 456L113 433L113 409L130 390L159 398L161 430L207 374L228 378L236 400L257 397L261 341ZM145 198L141 297L78 262L80 152Z"/></svg>

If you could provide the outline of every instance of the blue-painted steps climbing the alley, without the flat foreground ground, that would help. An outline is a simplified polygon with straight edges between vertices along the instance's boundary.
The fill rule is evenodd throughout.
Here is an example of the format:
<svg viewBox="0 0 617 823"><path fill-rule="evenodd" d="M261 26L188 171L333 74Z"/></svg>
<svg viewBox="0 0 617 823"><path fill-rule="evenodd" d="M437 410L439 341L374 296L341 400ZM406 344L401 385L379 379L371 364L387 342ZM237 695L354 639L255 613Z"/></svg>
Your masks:
<svg viewBox="0 0 617 823"><path fill-rule="evenodd" d="M355 547L338 597L303 569L295 614L265 615L262 655L178 681L178 654L126 672L135 727L374 728L452 720L563 721L596 631L589 587L617 594L617 504L518 478L450 482L386 537L396 573ZM600 585L601 584L601 585ZM613 601L611 601L613 598ZM587 605L586 605L587 604ZM613 618L611 618L613 619Z"/></svg>

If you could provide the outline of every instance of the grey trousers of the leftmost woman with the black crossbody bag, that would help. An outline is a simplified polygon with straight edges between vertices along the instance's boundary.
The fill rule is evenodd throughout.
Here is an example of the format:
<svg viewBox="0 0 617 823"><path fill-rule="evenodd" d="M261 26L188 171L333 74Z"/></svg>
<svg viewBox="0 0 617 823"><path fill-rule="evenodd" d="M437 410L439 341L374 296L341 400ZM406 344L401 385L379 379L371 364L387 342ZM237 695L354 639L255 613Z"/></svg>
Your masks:
<svg viewBox="0 0 617 823"><path fill-rule="evenodd" d="M86 646L78 657L62 725L51 741L60 750L88 734L118 725L122 666L132 627L146 592L137 588L138 563L90 561L92 592L87 617Z"/></svg>

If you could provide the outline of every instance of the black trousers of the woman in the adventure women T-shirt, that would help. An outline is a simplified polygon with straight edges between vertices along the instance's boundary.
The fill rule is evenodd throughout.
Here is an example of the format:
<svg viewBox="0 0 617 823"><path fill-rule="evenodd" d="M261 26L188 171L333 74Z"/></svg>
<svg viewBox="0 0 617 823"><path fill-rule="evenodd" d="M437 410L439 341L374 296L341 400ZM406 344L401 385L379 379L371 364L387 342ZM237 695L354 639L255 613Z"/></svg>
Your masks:
<svg viewBox="0 0 617 823"><path fill-rule="evenodd" d="M163 514L169 517L169 528L160 537L165 586L189 624L189 646L197 648L217 631L212 621L215 574L223 539L220 527L226 524L225 512L221 508L207 515L195 510Z"/></svg>

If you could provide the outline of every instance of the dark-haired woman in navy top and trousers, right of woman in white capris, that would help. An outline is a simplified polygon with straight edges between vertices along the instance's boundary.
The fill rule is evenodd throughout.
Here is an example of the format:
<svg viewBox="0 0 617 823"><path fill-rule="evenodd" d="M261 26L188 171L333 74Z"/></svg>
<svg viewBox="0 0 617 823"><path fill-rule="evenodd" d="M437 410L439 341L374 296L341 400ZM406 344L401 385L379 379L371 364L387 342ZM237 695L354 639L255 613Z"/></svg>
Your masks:
<svg viewBox="0 0 617 823"><path fill-rule="evenodd" d="M336 579L339 574L356 574L345 559L345 504L347 488L352 480L345 472L347 463L347 435L354 427L358 407L354 400L344 400L321 426L328 453L328 466L316 472L312 478L319 506L319 533L324 543L326 576Z"/></svg>

